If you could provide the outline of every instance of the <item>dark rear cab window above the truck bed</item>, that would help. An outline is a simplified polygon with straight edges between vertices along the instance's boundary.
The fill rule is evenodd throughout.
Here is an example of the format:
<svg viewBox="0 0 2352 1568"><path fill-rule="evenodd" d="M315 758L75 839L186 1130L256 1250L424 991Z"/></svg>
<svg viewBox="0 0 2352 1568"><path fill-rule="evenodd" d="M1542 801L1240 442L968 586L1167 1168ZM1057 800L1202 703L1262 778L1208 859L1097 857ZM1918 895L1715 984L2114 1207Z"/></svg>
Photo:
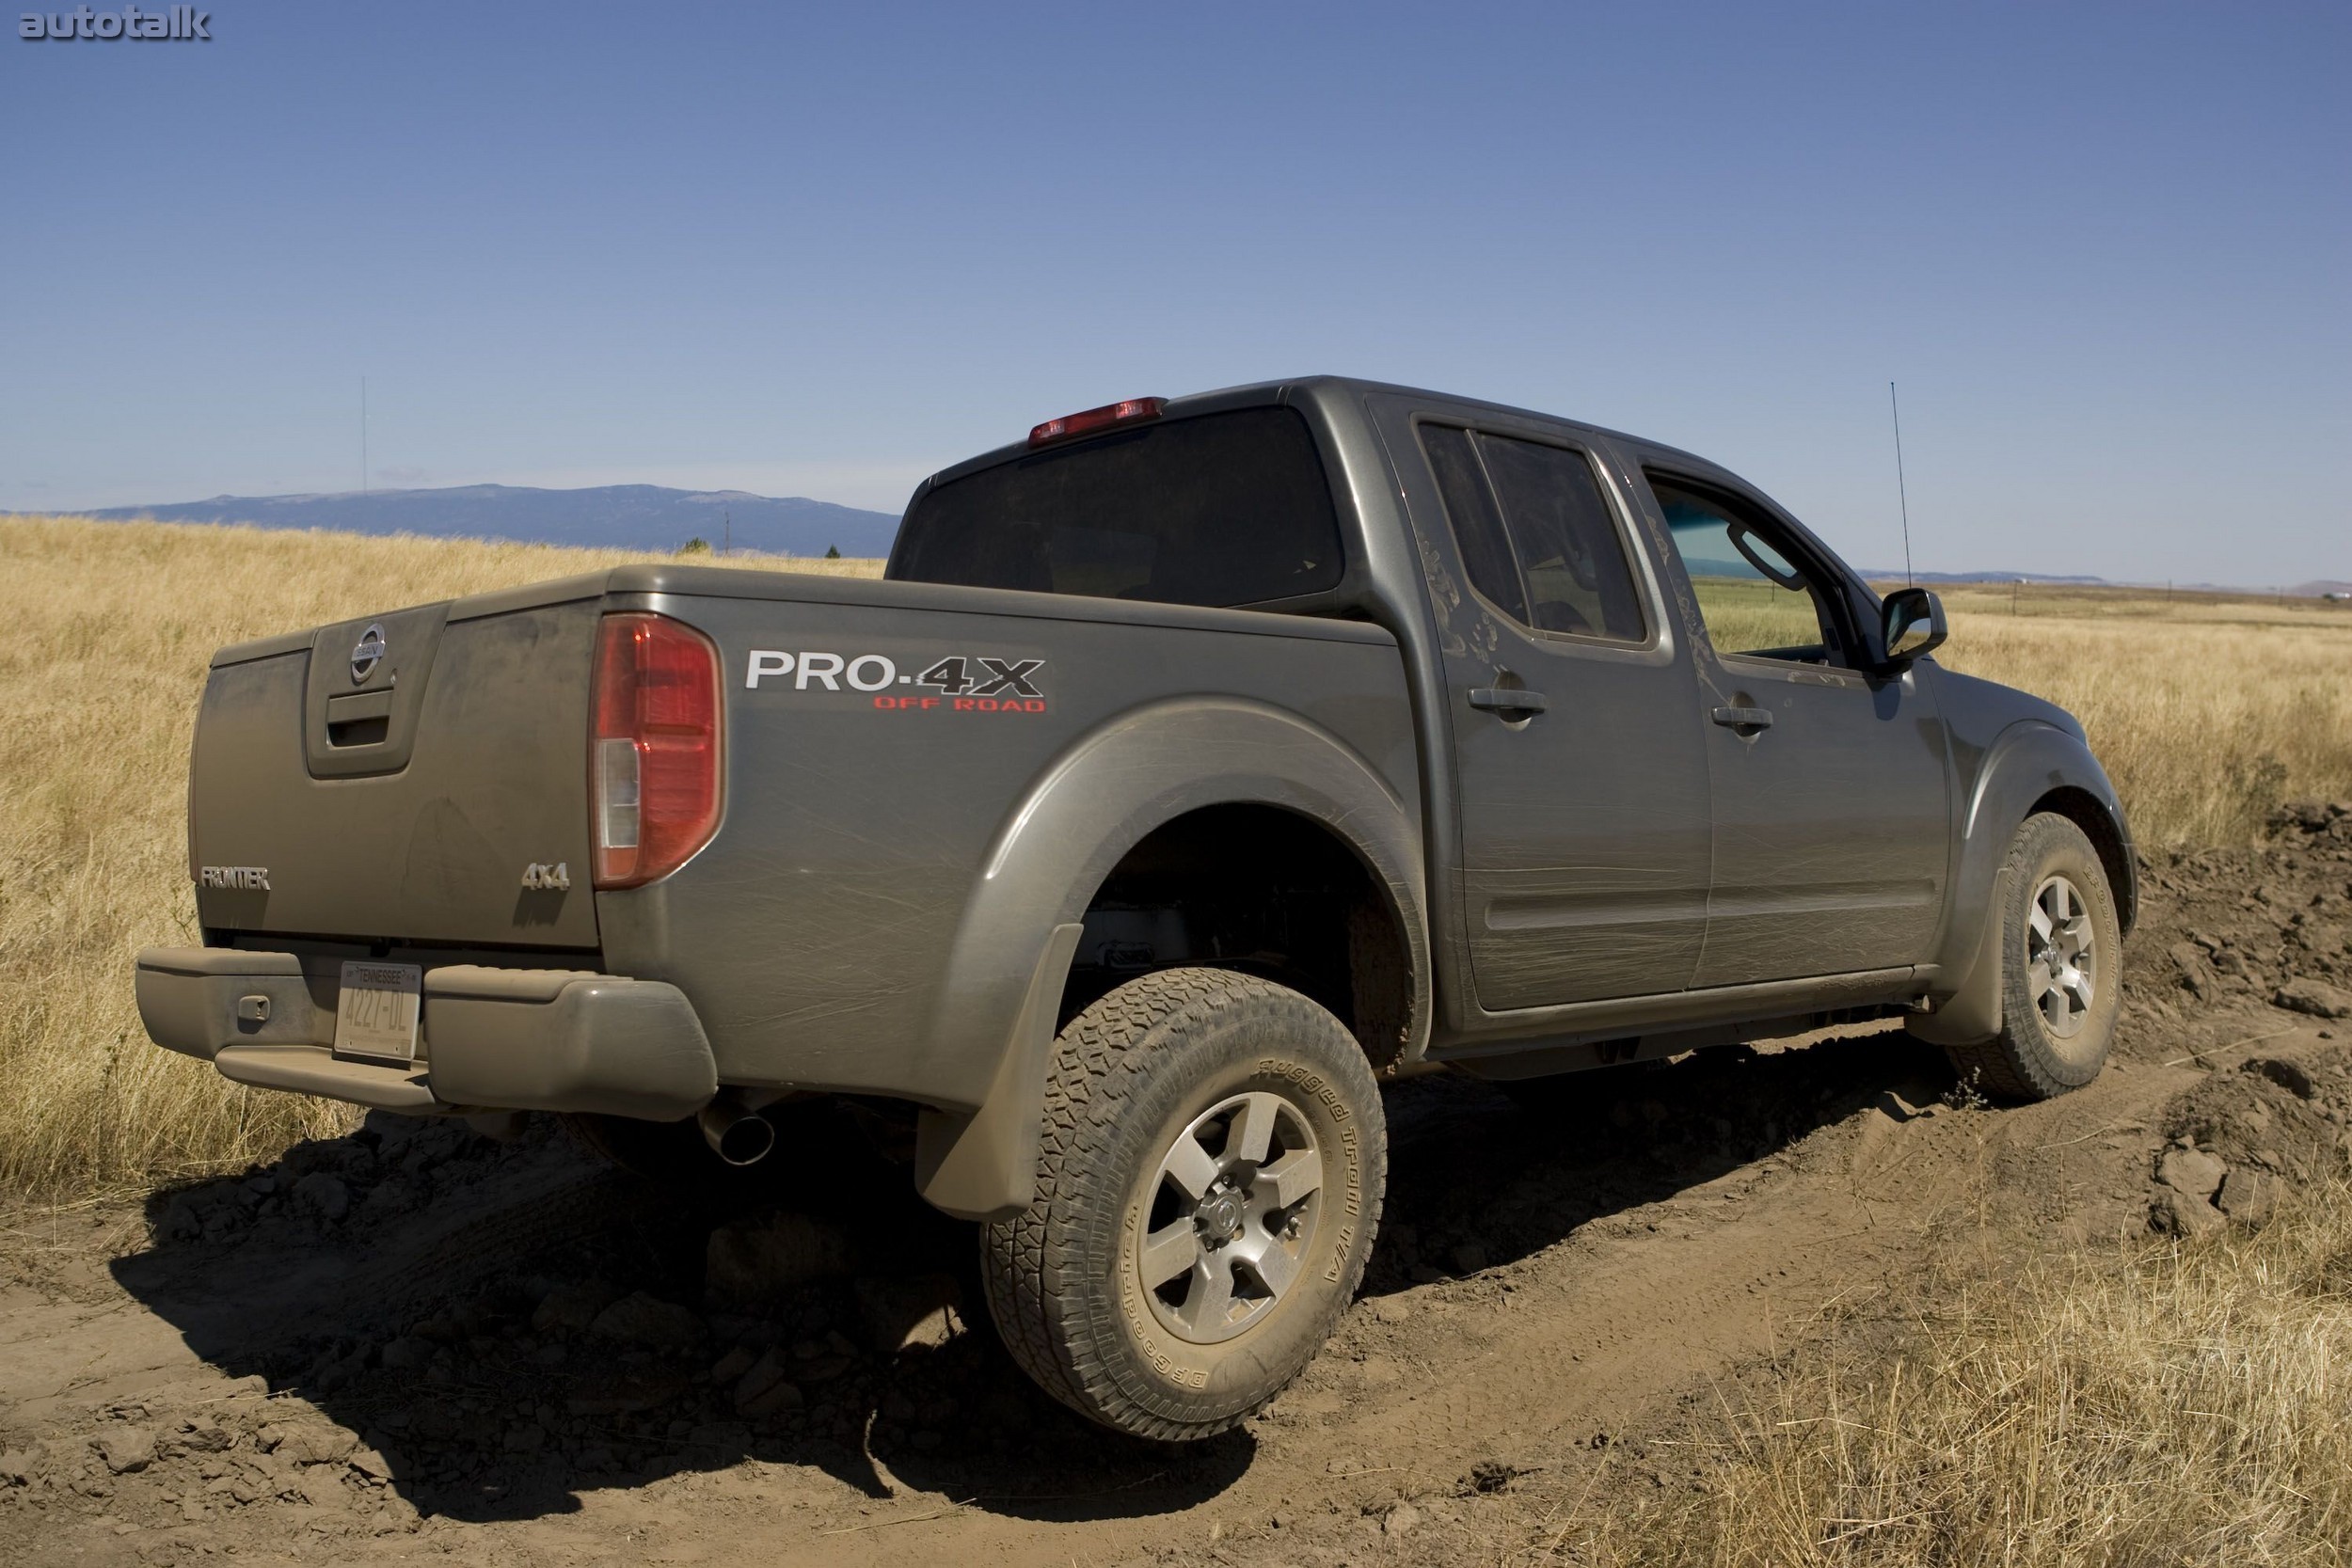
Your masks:
<svg viewBox="0 0 2352 1568"><path fill-rule="evenodd" d="M1338 585L1331 480L1287 407L1195 414L934 484L889 576L1157 604L1270 604Z"/></svg>

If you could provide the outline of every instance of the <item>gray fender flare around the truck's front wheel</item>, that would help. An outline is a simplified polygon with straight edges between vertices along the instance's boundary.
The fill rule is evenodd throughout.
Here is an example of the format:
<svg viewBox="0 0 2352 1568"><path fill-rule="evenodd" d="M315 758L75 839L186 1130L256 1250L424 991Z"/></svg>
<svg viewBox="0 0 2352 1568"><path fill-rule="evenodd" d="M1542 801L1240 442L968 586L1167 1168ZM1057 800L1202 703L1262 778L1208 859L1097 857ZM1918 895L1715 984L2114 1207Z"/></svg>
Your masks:
<svg viewBox="0 0 2352 1568"><path fill-rule="evenodd" d="M2018 825L2053 792L2082 792L2105 816L2119 849L2112 889L2124 924L2138 898L2131 832L2107 771L2079 738L2044 719L2018 719L1992 738L1969 788L1959 823L1950 917L1936 945L1933 1011L1912 1013L1903 1027L1940 1046L1983 1044L2002 1032L2002 907L2004 860Z"/></svg>

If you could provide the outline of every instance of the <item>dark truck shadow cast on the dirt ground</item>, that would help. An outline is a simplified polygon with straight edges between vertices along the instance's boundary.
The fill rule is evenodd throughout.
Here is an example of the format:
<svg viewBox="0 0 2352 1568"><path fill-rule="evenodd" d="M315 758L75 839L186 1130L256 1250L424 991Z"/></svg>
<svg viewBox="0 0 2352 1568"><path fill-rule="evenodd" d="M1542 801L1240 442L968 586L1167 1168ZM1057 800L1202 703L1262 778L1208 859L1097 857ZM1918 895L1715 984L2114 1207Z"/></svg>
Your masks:
<svg viewBox="0 0 2352 1568"><path fill-rule="evenodd" d="M1886 1088L1950 1081L1940 1053L1879 1034L1578 1074L1541 1095L1392 1086L1364 1293L1508 1265ZM851 1152L795 1182L680 1197L553 1126L496 1145L369 1117L158 1194L153 1244L115 1276L205 1361L355 1434L336 1460L350 1486L463 1521L564 1514L588 1490L746 1460L1028 1519L1185 1509L1249 1469L1249 1432L1131 1443L1037 1392L976 1307L971 1227L880 1159ZM315 1472L280 1465L256 1486L301 1474Z"/></svg>

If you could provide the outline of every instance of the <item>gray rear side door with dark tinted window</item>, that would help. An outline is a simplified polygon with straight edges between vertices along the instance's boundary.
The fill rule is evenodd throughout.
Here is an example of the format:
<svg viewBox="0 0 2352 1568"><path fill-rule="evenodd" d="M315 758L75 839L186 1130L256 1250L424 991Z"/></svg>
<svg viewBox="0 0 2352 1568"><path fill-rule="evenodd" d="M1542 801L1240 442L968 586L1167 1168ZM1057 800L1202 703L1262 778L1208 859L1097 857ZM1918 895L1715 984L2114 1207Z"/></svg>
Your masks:
<svg viewBox="0 0 2352 1568"><path fill-rule="evenodd" d="M1672 992L1705 936L1708 759L1684 639L1573 435L1397 418L1439 614L1484 1011Z"/></svg>

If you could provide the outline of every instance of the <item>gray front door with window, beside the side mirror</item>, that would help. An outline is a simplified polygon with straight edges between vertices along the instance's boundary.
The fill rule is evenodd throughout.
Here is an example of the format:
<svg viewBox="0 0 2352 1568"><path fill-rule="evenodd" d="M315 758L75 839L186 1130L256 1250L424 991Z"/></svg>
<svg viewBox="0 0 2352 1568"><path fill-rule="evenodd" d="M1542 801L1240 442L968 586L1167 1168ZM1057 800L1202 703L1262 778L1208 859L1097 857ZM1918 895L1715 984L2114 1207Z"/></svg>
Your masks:
<svg viewBox="0 0 2352 1568"><path fill-rule="evenodd" d="M1693 985L1922 961L1950 858L1931 686L1860 668L1832 569L1752 498L1656 468L1649 487L1712 644L1715 879Z"/></svg>

